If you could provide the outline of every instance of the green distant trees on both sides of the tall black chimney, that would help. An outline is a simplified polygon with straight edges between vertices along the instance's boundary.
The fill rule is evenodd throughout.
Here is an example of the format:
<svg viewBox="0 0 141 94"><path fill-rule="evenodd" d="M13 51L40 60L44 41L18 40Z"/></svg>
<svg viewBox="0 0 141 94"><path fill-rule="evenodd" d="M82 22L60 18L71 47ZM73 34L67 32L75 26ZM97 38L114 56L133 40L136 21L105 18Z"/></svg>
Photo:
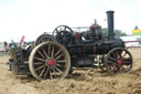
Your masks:
<svg viewBox="0 0 141 94"><path fill-rule="evenodd" d="M104 28L101 31L102 31L102 33L105 35L108 35L108 29L107 28ZM127 33L122 32L121 30L115 30L113 32L115 32L115 36L116 38L126 36L127 35Z"/></svg>

